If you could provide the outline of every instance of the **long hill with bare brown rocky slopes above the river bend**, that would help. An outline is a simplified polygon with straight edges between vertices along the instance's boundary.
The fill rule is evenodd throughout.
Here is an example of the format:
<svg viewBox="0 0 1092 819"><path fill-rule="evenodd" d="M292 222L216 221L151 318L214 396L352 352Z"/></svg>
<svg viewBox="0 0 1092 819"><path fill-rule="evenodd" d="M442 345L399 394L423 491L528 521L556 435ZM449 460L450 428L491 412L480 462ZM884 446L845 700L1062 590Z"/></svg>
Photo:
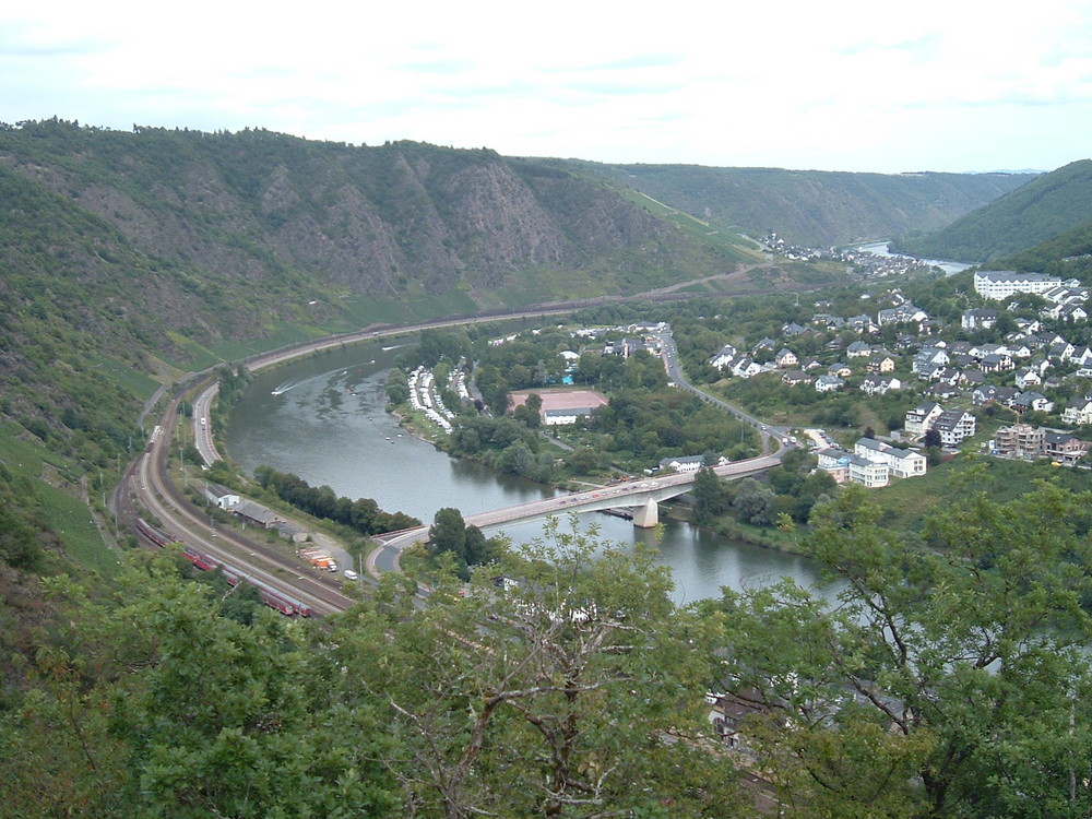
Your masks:
<svg viewBox="0 0 1092 819"><path fill-rule="evenodd" d="M230 298L218 301L240 305L241 289L262 313L283 309L256 304L271 288L281 304L459 288L465 310L500 306L532 273L557 280L541 288L546 300L724 272L744 258L709 252L602 183L488 150L46 121L4 128L0 165L185 269L194 295L221 290ZM178 293L167 285L163 296Z"/></svg>

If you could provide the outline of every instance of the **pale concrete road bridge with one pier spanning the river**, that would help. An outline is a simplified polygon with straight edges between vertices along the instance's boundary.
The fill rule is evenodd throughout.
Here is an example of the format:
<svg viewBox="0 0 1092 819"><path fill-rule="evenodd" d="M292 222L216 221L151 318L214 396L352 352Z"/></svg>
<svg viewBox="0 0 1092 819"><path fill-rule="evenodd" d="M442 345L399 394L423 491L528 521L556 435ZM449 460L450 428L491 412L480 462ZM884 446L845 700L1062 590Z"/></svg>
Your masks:
<svg viewBox="0 0 1092 819"><path fill-rule="evenodd" d="M784 452L784 450L782 450ZM738 479L756 475L781 463L781 454L760 455L746 461L716 466L713 472L717 477ZM589 488L570 495L558 495L544 500L505 507L488 512L463 515L467 525L479 529L500 526L506 523L563 515L568 512L595 512L604 509L633 509L633 525L642 527L655 526L660 522L660 501L675 498L689 491L697 473L663 475L645 480L634 480L627 484ZM428 526L403 532L392 532L378 535L375 539L382 543L368 555L368 572L378 577L383 572L399 571L399 556L402 550L414 543L428 539Z"/></svg>

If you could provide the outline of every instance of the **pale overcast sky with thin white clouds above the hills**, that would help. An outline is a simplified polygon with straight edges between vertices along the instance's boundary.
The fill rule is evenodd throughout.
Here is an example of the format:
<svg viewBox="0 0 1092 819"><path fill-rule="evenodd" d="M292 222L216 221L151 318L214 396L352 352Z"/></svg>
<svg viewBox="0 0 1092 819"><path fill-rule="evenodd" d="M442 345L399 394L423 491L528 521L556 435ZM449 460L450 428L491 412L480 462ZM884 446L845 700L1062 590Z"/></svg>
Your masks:
<svg viewBox="0 0 1092 819"><path fill-rule="evenodd" d="M1089 0L283 8L5 3L0 120L881 173L1092 156Z"/></svg>

